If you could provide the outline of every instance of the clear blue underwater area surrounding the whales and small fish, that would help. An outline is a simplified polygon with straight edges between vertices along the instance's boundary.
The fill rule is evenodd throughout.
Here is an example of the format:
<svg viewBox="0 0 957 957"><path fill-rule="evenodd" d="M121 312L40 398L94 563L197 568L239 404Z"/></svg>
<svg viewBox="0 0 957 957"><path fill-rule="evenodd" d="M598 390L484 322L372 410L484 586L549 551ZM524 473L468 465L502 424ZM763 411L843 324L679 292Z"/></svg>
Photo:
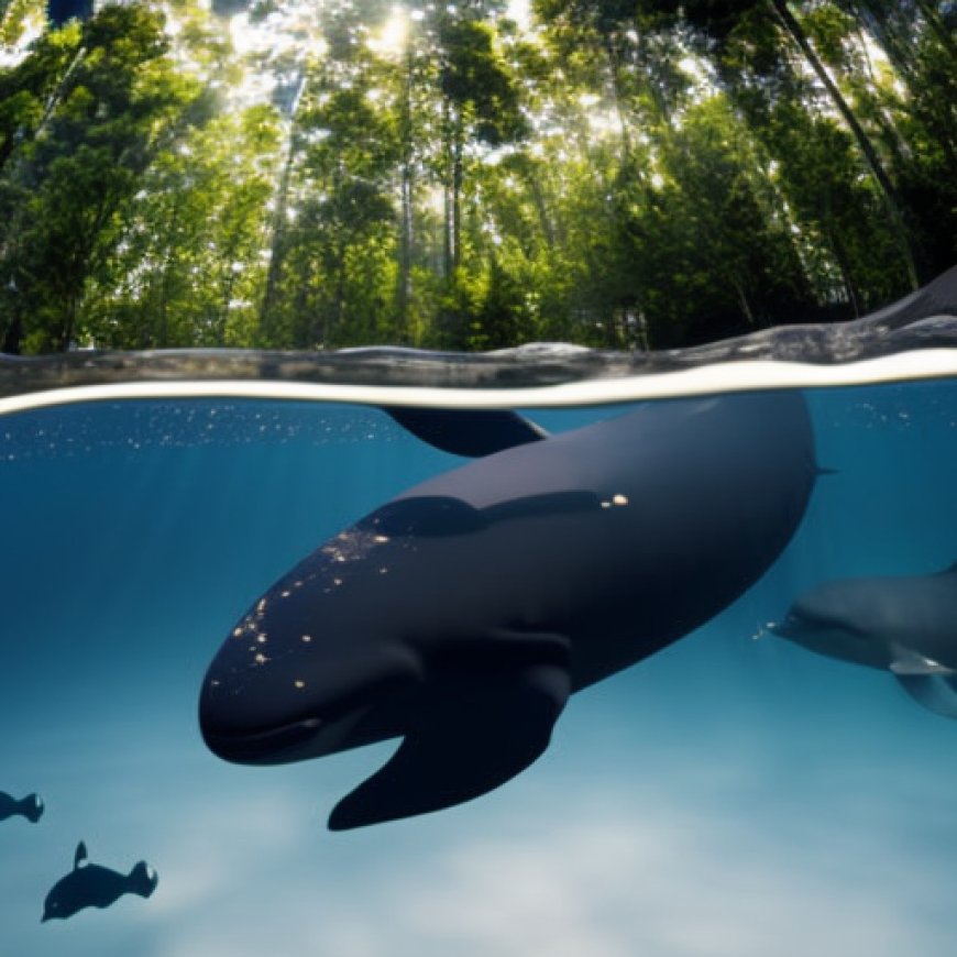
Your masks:
<svg viewBox="0 0 957 957"><path fill-rule="evenodd" d="M953 954L957 722L763 626L818 582L957 561L957 382L807 399L835 474L754 588L572 697L499 790L343 834L329 810L394 745L231 766L199 737L200 683L290 565L461 460L360 407L0 419L0 791L45 802L0 821L0 954ZM148 861L156 892L41 924L80 839Z"/></svg>

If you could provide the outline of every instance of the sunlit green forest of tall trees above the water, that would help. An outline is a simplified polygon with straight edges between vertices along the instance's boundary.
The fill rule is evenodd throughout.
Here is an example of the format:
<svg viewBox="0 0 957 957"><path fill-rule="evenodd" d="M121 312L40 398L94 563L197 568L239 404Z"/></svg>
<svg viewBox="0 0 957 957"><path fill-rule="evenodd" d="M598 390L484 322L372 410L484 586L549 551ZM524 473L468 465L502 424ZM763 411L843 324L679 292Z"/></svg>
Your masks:
<svg viewBox="0 0 957 957"><path fill-rule="evenodd" d="M957 2L0 0L0 351L854 318L957 263Z"/></svg>

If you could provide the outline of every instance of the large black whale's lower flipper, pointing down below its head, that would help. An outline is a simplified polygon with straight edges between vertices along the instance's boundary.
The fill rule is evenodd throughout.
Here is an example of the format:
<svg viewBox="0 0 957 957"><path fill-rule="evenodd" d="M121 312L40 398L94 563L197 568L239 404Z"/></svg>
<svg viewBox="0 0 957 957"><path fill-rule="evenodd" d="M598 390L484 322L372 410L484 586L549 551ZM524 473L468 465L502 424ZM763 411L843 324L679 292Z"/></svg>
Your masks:
<svg viewBox="0 0 957 957"><path fill-rule="evenodd" d="M440 811L504 784L548 747L570 692L562 639L476 641L430 678L398 750L339 802L329 828Z"/></svg>

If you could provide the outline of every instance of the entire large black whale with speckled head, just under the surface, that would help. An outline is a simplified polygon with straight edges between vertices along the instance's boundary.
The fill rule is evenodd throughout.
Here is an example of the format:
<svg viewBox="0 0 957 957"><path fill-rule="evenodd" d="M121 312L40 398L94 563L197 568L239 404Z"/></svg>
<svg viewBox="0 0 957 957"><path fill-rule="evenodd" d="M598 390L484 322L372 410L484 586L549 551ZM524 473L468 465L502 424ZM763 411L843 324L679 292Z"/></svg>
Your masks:
<svg viewBox="0 0 957 957"><path fill-rule="evenodd" d="M333 829L447 807L517 774L570 693L754 584L816 475L796 392L649 404L552 437L512 413L391 411L484 458L300 562L238 623L200 694L204 737L232 761L404 736L339 803Z"/></svg>

